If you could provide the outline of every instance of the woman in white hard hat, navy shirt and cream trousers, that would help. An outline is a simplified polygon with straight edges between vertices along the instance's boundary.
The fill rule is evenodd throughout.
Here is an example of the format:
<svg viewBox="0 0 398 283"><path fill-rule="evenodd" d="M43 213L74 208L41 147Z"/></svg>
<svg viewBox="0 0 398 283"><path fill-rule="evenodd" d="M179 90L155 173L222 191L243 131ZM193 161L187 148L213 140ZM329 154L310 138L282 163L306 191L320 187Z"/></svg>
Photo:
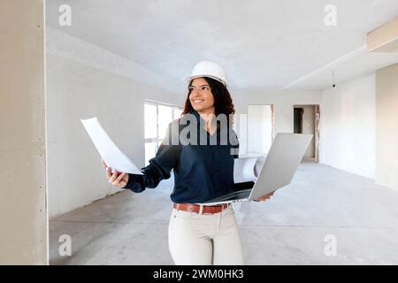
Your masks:
<svg viewBox="0 0 398 283"><path fill-rule="evenodd" d="M226 88L226 75L219 65L202 61L186 80L188 97L182 117L169 125L156 157L142 168L143 175L111 173L103 163L106 177L113 186L139 193L145 187L157 187L160 180L170 177L173 169L169 249L174 263L243 264L232 205L197 204L238 188L233 184L233 158L238 157L238 143L232 128L234 107ZM227 137L226 141L222 137Z"/></svg>

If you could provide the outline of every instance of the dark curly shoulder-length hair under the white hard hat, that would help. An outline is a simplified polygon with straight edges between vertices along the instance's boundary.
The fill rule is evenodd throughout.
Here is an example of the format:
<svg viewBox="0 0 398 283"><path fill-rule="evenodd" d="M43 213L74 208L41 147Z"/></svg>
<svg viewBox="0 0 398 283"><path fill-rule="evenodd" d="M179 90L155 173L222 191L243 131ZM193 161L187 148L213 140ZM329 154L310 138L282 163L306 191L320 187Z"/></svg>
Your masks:
<svg viewBox="0 0 398 283"><path fill-rule="evenodd" d="M233 100L231 98L231 94L229 93L228 89L222 82L218 80L214 80L209 77L203 77L203 79L206 80L207 83L210 85L211 93L213 94L214 98L214 111L216 117L218 116L218 114L226 114L226 119L228 119L228 124L232 125L233 121L230 121L229 114L234 114L235 108L233 106ZM192 81L193 80L189 82L188 88L192 85ZM194 107L192 107L192 104L189 100L190 94L191 93L188 90L188 96L184 104L184 110L182 111L182 115L192 113L193 111L195 111Z"/></svg>

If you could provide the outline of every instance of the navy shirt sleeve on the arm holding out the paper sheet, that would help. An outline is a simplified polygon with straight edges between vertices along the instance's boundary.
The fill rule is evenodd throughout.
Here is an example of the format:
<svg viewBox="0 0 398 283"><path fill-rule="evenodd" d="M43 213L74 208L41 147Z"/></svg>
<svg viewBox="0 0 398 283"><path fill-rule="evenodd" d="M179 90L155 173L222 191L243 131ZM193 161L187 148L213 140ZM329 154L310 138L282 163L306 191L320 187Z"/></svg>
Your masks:
<svg viewBox="0 0 398 283"><path fill-rule="evenodd" d="M141 169L142 175L128 174L126 189L141 193L146 187L157 187L161 180L169 179L172 168L178 162L180 145L172 145L172 123L169 124L165 139L157 149L157 155L149 160L149 165Z"/></svg>

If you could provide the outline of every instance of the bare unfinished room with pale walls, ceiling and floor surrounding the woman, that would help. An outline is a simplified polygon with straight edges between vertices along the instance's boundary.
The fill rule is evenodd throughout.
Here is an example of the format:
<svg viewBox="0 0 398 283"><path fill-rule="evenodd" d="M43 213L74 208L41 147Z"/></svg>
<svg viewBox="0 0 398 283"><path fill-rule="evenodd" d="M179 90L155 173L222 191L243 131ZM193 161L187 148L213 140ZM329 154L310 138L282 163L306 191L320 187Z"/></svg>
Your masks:
<svg viewBox="0 0 398 283"><path fill-rule="evenodd" d="M228 203L237 263L398 264L396 0L4 0L0 14L0 264L179 264L180 169L119 186L81 119L153 165L203 60L226 74L239 158L312 135L287 186Z"/></svg>

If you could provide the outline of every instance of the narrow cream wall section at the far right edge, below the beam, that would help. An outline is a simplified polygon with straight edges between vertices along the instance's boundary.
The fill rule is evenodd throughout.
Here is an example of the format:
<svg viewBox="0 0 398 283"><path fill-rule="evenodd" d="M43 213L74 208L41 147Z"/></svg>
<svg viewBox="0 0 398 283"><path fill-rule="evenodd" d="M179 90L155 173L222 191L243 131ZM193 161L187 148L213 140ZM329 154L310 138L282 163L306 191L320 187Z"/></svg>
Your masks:
<svg viewBox="0 0 398 283"><path fill-rule="evenodd" d="M398 189L398 64L376 72L376 183Z"/></svg>

